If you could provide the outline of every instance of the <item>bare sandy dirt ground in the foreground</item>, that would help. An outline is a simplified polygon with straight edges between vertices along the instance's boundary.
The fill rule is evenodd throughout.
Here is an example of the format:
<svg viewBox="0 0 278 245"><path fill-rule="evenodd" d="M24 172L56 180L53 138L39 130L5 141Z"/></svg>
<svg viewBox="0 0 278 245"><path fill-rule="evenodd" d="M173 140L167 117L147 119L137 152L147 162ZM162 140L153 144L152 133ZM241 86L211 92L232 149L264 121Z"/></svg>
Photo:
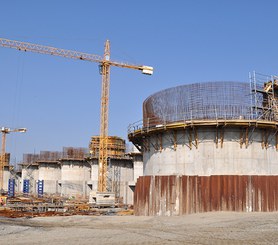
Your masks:
<svg viewBox="0 0 278 245"><path fill-rule="evenodd" d="M0 217L0 244L278 244L278 213Z"/></svg>

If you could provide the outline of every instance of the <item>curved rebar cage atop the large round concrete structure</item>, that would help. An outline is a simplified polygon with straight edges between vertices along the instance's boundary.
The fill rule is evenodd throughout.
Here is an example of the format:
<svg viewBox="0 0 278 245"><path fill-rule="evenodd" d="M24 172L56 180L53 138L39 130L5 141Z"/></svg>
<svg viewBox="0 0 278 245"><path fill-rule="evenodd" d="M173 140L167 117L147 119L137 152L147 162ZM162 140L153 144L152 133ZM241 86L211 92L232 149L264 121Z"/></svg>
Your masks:
<svg viewBox="0 0 278 245"><path fill-rule="evenodd" d="M253 119L250 84L206 82L177 86L143 103L143 126L187 120Z"/></svg>

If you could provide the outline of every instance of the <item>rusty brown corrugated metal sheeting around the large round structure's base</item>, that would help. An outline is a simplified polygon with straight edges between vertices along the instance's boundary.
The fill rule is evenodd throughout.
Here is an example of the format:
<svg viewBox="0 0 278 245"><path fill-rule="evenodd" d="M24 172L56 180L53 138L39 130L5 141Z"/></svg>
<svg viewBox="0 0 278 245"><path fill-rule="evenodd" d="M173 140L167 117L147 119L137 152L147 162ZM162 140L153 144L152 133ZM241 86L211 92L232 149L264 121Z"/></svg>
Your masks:
<svg viewBox="0 0 278 245"><path fill-rule="evenodd" d="M134 210L136 215L278 211L278 176L142 176Z"/></svg>

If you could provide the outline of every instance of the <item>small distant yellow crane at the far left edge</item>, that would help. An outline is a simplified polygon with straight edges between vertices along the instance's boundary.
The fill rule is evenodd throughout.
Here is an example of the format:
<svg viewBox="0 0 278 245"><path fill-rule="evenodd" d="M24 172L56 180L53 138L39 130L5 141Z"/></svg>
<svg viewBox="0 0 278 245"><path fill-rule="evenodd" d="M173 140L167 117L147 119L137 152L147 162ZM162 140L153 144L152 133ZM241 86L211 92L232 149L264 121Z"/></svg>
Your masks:
<svg viewBox="0 0 278 245"><path fill-rule="evenodd" d="M4 188L4 167L7 166L8 159L6 157L6 135L12 132L25 133L26 128L6 128L2 127L0 132L2 133L2 146L1 146L1 163L0 163L0 190L3 191Z"/></svg>

